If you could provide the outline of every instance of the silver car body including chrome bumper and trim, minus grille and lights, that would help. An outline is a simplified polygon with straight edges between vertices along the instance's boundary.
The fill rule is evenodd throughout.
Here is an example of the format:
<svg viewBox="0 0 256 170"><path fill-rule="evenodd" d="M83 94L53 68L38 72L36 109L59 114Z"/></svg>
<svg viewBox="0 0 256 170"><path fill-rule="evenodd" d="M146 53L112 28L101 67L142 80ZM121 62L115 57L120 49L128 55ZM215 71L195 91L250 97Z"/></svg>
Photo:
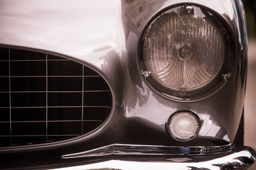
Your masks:
<svg viewBox="0 0 256 170"><path fill-rule="evenodd" d="M138 64L146 24L177 4L209 8L223 18L235 40L236 62L230 79L210 96L194 101L161 96L146 83ZM1 148L4 169L249 167L256 160L255 151L233 145L245 98L244 16L238 0L1 0L2 47L48 52L85 64L107 81L113 101L107 120L86 135ZM177 111L192 111L203 121L196 142L171 142L166 123Z"/></svg>

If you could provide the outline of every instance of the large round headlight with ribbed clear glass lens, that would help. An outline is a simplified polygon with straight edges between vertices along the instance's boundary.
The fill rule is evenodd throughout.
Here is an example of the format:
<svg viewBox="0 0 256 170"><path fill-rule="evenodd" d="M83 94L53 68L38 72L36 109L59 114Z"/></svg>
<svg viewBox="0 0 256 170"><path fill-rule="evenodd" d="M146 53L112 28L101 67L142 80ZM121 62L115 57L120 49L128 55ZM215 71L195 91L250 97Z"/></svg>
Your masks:
<svg viewBox="0 0 256 170"><path fill-rule="evenodd" d="M205 8L181 5L156 16L142 38L142 74L165 96L191 99L209 94L230 75L230 33ZM230 65L229 65L230 66ZM220 80L222 79L222 80Z"/></svg>

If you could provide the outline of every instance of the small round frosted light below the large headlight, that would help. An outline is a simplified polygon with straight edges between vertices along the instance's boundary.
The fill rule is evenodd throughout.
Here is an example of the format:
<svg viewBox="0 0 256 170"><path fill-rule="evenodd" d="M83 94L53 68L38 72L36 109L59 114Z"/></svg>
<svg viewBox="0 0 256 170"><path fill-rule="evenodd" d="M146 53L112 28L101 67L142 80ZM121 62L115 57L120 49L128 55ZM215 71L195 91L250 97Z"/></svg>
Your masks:
<svg viewBox="0 0 256 170"><path fill-rule="evenodd" d="M171 115L168 123L169 132L175 140L188 141L196 136L199 130L199 122L196 115L188 111L182 111Z"/></svg>

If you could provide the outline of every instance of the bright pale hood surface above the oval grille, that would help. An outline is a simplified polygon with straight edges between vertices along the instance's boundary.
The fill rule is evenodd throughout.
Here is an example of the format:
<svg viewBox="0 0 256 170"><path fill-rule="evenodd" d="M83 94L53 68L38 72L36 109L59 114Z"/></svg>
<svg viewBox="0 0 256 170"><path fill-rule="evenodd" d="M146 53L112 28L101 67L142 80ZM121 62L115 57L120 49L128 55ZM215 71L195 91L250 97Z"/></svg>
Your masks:
<svg viewBox="0 0 256 170"><path fill-rule="evenodd" d="M95 50L124 50L119 0L4 0L0 6L1 44L76 58Z"/></svg>

